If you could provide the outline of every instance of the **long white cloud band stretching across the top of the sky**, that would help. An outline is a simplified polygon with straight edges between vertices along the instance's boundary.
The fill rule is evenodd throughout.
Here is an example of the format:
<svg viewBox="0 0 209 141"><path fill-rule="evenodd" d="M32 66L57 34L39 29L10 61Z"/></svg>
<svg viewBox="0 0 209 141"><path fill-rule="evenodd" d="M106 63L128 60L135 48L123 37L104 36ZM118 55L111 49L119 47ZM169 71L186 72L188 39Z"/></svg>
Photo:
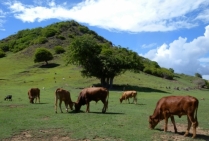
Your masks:
<svg viewBox="0 0 209 141"><path fill-rule="evenodd" d="M201 17L209 19L207 12L203 12L208 0L84 0L71 8L66 2L58 5L54 0L48 1L48 6L24 5L18 1L7 5L15 17L24 22L74 19L91 26L128 32L191 28L197 26L196 20L205 20ZM189 15L197 16L197 9L202 13L194 20Z"/></svg>

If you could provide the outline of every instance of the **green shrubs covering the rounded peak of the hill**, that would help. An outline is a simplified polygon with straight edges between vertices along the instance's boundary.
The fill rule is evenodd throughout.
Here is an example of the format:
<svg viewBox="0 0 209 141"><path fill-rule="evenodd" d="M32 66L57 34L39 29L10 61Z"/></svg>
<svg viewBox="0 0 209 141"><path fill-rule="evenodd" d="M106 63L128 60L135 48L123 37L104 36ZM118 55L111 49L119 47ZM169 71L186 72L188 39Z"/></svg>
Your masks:
<svg viewBox="0 0 209 141"><path fill-rule="evenodd" d="M44 44L46 48L60 44L67 47L74 36L81 36L83 34L92 34L100 42L109 42L75 21L66 21L51 24L44 28L38 27L18 31L16 34L1 40L0 49L4 52L18 52L30 46L38 46L40 44Z"/></svg>

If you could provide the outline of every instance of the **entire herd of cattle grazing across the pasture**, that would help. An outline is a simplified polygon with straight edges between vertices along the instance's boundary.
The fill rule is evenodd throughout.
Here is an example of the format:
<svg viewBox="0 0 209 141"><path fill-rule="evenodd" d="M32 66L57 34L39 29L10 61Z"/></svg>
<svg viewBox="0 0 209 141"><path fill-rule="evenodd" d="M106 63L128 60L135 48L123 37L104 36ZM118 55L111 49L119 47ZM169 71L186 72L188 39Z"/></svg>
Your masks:
<svg viewBox="0 0 209 141"><path fill-rule="evenodd" d="M128 100L133 97L133 103L137 103L137 92L136 91L125 91L123 92L120 100L122 103L123 100ZM40 103L40 89L39 88L31 88L28 91L28 98L30 103L37 102L37 99ZM75 111L79 112L82 105L86 105L86 112L89 111L89 103L91 101L102 101L104 104L102 113L105 113L108 108L108 98L109 91L103 87L91 87L84 88L81 90L78 99L76 102L73 102L70 97L70 92L64 90L62 88L58 88L55 91L55 113L57 113L57 103L59 101L60 111L63 113L61 104L64 101L66 111L68 112L68 107L73 110L73 106L75 107ZM8 95L4 100L12 100L12 95ZM130 102L129 102L130 103ZM150 129L154 129L155 126L162 120L165 120L164 131L167 131L168 118L171 118L171 121L174 125L174 131L177 132L177 128L175 125L174 115L179 116L187 115L188 127L184 134L187 136L191 126L193 127L193 136L196 136L196 128L198 126L197 121L197 109L198 109L199 101L195 97L192 96L167 96L161 98L155 107L153 115L149 116L149 127Z"/></svg>

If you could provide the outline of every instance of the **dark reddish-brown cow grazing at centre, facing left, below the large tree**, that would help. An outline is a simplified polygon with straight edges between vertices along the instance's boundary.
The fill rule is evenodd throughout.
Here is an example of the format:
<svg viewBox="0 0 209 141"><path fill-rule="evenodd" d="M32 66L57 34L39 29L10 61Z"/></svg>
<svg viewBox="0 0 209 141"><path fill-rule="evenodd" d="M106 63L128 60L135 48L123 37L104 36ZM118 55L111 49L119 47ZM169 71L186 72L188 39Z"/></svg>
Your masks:
<svg viewBox="0 0 209 141"><path fill-rule="evenodd" d="M90 101L98 102L99 100L101 100L102 103L104 104L102 113L105 113L108 107L108 97L109 97L109 91L106 88L103 87L85 88L80 92L80 95L78 96L78 100L77 102L75 102L75 111L76 112L80 111L81 106L86 104L86 112L90 112L89 111Z"/></svg>

